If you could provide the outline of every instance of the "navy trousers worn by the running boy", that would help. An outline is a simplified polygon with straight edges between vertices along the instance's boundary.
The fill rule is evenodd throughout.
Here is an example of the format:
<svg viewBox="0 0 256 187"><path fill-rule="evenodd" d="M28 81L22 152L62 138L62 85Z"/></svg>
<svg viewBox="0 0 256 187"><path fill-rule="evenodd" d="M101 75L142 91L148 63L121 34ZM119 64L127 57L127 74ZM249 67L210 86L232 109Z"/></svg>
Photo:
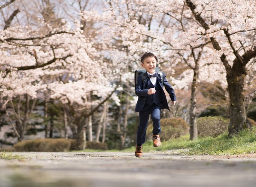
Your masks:
<svg viewBox="0 0 256 187"><path fill-rule="evenodd" d="M160 114L161 114L161 106L152 104L145 106L139 112L139 126L137 130L137 144L144 144L146 141L146 131L148 127L148 119L149 115L151 115L151 120L153 122L153 134L158 134L161 132L160 126Z"/></svg>

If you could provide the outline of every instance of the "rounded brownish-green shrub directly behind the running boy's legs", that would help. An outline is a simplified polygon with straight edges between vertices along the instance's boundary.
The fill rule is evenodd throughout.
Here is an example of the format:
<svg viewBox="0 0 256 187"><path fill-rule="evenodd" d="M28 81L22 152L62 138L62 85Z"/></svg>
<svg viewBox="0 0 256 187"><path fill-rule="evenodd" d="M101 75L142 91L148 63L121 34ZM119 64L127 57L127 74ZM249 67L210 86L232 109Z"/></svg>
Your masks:
<svg viewBox="0 0 256 187"><path fill-rule="evenodd" d="M182 118L164 118L161 119L161 141L167 141L172 138L178 138L185 134L188 129L188 124ZM148 125L147 138L152 138L153 124Z"/></svg>

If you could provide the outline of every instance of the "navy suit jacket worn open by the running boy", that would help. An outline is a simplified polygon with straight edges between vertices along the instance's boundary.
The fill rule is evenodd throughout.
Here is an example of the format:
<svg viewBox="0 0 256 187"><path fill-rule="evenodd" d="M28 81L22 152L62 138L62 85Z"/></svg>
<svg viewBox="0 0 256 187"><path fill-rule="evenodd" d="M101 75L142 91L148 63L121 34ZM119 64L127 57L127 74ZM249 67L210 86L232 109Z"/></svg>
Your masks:
<svg viewBox="0 0 256 187"><path fill-rule="evenodd" d="M170 83L166 80L165 75L163 76L164 81L162 84L160 74L157 72L156 72L156 74L157 74L156 81L158 81L158 83L160 84L160 87L161 87L161 97L162 97L162 102L161 102L162 107L161 108L162 109L166 108L166 109L170 110L163 87L166 89L166 91L169 94L172 101L176 100L176 95L174 93L174 89L172 88ZM145 85L147 84L148 81L150 81L150 79L148 79L148 77L146 77L146 80L144 81L144 83L142 83L141 75L138 75L138 77L137 77L137 85L135 88L135 94L138 96L138 101L137 101L137 104L135 107L135 112L140 112L140 110L142 110L142 108L144 107L146 96L149 95L148 89L145 89Z"/></svg>

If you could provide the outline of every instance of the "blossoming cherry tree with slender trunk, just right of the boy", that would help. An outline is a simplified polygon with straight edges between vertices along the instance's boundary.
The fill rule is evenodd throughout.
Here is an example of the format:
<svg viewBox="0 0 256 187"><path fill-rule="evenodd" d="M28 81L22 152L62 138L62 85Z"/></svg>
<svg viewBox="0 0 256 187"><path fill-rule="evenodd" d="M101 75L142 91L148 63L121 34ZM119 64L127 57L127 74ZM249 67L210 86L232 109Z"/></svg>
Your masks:
<svg viewBox="0 0 256 187"><path fill-rule="evenodd" d="M188 79L182 79L180 82L183 82L182 85L184 85L184 83L188 84L193 79L190 101L190 133L191 139L196 138L196 89L199 68L210 64L205 62L209 58L206 52L212 49L210 47L205 47L206 49L204 49L204 45L208 45L209 41L203 38L202 43L195 42L193 40L194 37L188 40L187 33L192 28L190 27L190 20L182 16L182 10L185 6L182 2L172 2L173 5L180 5L180 12L177 11L176 6L174 8L164 1L159 2L157 6L153 2L151 4L151 2L148 3L147 1L133 1L133 3L131 5L131 1L126 1L126 4L121 4L119 1L111 1L112 11L101 15L93 11L87 11L84 12L84 18L86 20L99 21L111 28L111 30L106 29L109 33L108 37L104 33L104 38L107 41L110 41L113 36L114 39L123 41L122 45L127 46L128 54L133 57L134 61L137 61L137 63L129 63L128 61L131 71L139 68L140 63L136 60L139 59L138 51L140 53L147 50L156 53L160 59L158 66L163 67L167 72L172 72L172 68L180 61L186 63L194 71L194 76L189 76ZM116 10L118 10L118 15L116 15ZM176 26L177 22L179 23L178 26ZM181 27L180 23L184 24L184 26ZM186 23L188 26L186 26ZM176 28L177 31L170 30L170 27ZM192 42L194 43L191 44ZM124 58L126 59L126 57ZM170 58L172 61L170 61ZM172 82L175 83L173 77ZM178 82L176 81L176 83ZM182 85L179 85L181 88Z"/></svg>

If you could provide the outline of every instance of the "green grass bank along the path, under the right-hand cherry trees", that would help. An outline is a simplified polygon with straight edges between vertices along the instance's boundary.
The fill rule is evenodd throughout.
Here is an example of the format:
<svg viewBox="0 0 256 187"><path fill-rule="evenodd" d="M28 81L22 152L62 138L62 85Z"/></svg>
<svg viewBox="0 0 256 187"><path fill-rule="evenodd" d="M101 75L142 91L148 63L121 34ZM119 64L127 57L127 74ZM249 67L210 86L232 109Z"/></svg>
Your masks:
<svg viewBox="0 0 256 187"><path fill-rule="evenodd" d="M133 152L134 147L124 150L125 152ZM209 155L237 155L250 154L256 152L256 128L243 130L233 138L228 138L227 133L216 138L198 138L197 140L189 140L189 135L180 138L162 142L158 148L153 147L152 140L148 140L143 144L143 151L170 151L176 150L180 154L209 154Z"/></svg>

